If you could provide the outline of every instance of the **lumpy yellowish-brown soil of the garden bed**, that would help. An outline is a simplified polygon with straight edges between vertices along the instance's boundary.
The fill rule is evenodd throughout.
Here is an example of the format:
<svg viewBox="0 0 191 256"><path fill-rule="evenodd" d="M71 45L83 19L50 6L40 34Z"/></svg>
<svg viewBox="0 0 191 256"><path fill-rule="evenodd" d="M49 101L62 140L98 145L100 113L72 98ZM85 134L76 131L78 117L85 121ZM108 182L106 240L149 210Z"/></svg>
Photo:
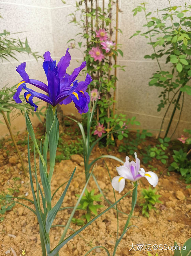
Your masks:
<svg viewBox="0 0 191 256"><path fill-rule="evenodd" d="M22 135L18 135L16 140L24 140L26 137L27 133L24 133ZM30 180L28 177L26 178L23 175L20 160L18 159L14 147L11 144L10 138L5 138L3 141L1 141L1 143L3 143L3 147L0 149L0 194L3 191L5 194L10 193L9 188L12 188L14 189L15 196L26 197L33 200L30 190ZM25 166L27 168L27 147L19 146L19 148L22 151ZM122 160L125 159L125 154L118 153L117 148L113 148L108 152L106 148L102 148L100 150L102 154L111 154L121 158ZM100 156L99 148L94 150L91 159L94 159L97 156ZM133 157L131 157L131 160L132 159ZM120 164L117 161L111 159L106 159L105 161L107 163L111 177L113 178L114 176L118 175L116 166L120 166ZM31 159L31 162L32 167L34 167L33 158ZM147 250L151 245L166 244L167 246L173 246L174 241L178 242L180 245L183 245L186 240L191 237L191 189L186 188L187 184L179 180L179 175L177 173L172 172L171 175L168 176L164 170L164 165L160 164L158 160L154 159L151 164L152 166L158 168L156 173L159 176L159 183L156 188L158 193L161 195L159 199L162 201L162 204L155 205L157 211L151 210L149 213L149 218L142 216L141 207L139 206L139 197L141 194L140 191L143 187L148 188L149 183L146 179L141 179L138 186L138 203L135 206L134 215L130 221L130 225L134 225L134 227L131 227L123 236L123 239L121 240L116 251L116 256L148 255ZM71 160L62 160L60 163L57 163L55 167L55 172L52 179L53 192L59 185L66 182L70 178L71 172L76 166L77 170L75 176L80 176L77 176L73 179L67 195L64 198L62 205L63 207L74 206L76 203L75 194L80 194L85 185L83 157L79 155L73 155L71 156ZM148 171L147 167L142 167ZM113 189L103 160L99 160L95 165L94 175L96 176L106 198L112 203L115 202ZM14 179L17 177L20 179ZM59 189L56 196L54 197L53 205L59 199L64 186ZM99 193L93 178L90 178L90 182L87 188L88 191L91 191L93 188L95 188L95 194ZM132 183L127 181L126 186L121 194L116 193L116 198L119 199L132 188ZM19 190L19 192L16 192L16 190ZM131 209L131 195L132 194L129 194L123 198L118 204L118 209L127 214L129 214ZM101 199L101 204L104 205L104 208L99 209L99 212L109 206L103 197ZM18 199L14 200L17 201ZM24 200L19 200L19 202L25 204L28 203ZM30 204L28 205L33 207ZM71 209L59 211L53 224L65 225L70 216L70 213ZM77 210L74 217L79 218L83 214L84 211ZM21 255L23 249L25 249L27 256L40 256L41 242L39 226L33 212L22 205L15 204L12 210L7 211L3 217L4 220L0 223L0 255L12 255L10 249L10 247L12 247L15 250L17 256ZM119 213L119 235L122 232L126 220L127 215ZM77 230L79 226L71 223L71 228ZM89 225L85 230L83 230L80 233L81 236L77 235L74 237L74 239L70 240L70 242L68 242L67 245L65 245L60 250L59 255L85 255L86 252L88 252L93 246L105 246L109 253L112 255L116 240L116 230L116 210L110 209L95 222ZM62 231L63 229L60 227L51 229L51 248L54 248L57 245ZM72 232L73 231L68 232L68 235ZM132 244L134 245L134 249L136 251L132 248ZM143 244L144 250L142 249L140 251L139 249L138 251L138 244ZM147 249L145 249L146 245ZM151 248L150 250L152 255L155 255L156 253L158 253L159 256L174 255L170 248L167 250L166 248L163 250L157 249L156 251ZM88 255L105 256L107 253L102 248L97 248L90 252Z"/></svg>

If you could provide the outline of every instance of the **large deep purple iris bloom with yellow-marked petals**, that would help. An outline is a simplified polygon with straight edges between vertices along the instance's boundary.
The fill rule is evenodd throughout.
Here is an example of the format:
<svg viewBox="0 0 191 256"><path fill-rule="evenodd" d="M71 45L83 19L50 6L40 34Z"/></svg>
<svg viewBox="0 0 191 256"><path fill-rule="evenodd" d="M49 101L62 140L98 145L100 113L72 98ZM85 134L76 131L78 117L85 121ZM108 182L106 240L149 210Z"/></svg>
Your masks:
<svg viewBox="0 0 191 256"><path fill-rule="evenodd" d="M58 66L56 66L56 61L53 61L50 57L49 51L44 53L44 62L42 66L47 77L48 85L39 80L29 79L29 76L25 71L26 62L18 65L16 71L20 74L23 80L17 85L17 91L13 96L13 99L17 103L21 103L22 101L20 100L19 95L21 90L25 89L27 92L24 93L24 97L26 101L34 107L34 111L36 111L38 106L33 103L33 97L37 97L48 102L52 106L56 106L58 103L68 104L73 101L80 114L86 113L88 111L90 97L85 91L92 79L91 76L87 74L85 81L78 83L78 80L75 80L79 72L85 68L86 61L82 62L78 68L74 69L71 75L66 73L66 69L71 60L68 50L69 48L67 49L65 56L58 62ZM26 83L38 87L46 94L35 92L28 88Z"/></svg>

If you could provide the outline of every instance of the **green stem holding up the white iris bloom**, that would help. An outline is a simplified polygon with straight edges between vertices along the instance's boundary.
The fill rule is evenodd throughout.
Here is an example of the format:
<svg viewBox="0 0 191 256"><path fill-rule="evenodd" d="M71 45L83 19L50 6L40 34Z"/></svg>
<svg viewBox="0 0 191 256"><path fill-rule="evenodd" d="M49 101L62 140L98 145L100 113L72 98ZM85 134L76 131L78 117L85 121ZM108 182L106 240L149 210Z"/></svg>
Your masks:
<svg viewBox="0 0 191 256"><path fill-rule="evenodd" d="M118 244L120 243L120 241L121 241L121 239L122 239L122 237L123 237L123 235L127 232L127 227L128 227L128 225L129 225L129 221L130 221L130 219L131 219L131 217L132 217L132 215L133 215L133 211L134 211L134 208L135 208L135 205L136 205L136 200L137 200L137 181L134 183L134 185L135 185L135 187L134 187L134 189L133 189L133 194L132 194L132 203L131 203L131 211L130 211L130 214L129 214L129 217L128 217L128 219L127 219L127 222L126 222L126 224L125 224L125 226L124 226L124 228L123 228L123 231L122 231L122 234L121 234L121 236L119 237L119 239L116 241L116 243L115 243L115 248L114 248L114 252L113 252L113 256L115 255L115 253L116 253L116 250L117 250L117 246L118 246Z"/></svg>

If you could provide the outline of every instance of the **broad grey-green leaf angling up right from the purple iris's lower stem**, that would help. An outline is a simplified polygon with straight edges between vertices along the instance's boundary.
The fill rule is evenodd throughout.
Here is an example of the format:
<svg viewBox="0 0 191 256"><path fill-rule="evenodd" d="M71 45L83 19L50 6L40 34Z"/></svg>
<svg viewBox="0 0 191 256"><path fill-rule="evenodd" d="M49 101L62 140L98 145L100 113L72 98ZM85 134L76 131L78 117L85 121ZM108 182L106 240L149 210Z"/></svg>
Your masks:
<svg viewBox="0 0 191 256"><path fill-rule="evenodd" d="M56 215L57 215L57 212L58 212L59 209L60 209L60 206L61 206L61 204L62 204L62 202L63 202L64 196L65 196L65 194L66 194L66 192L67 192L67 190L68 190L68 187L69 187L69 185L70 185L70 183L71 183L71 181L72 181L72 178L73 178L73 176L74 176L75 171L76 171L76 167L74 168L74 170L73 170L73 172L72 172L72 175L71 175L71 177L70 177L70 180L69 180L67 186L65 187L65 189L64 189L64 191L63 191L63 193L62 193L60 199L58 200L58 202L56 203L56 205L48 212L47 220L46 220L46 232L47 232L47 233L49 233L50 228L51 228L51 225L52 225L52 223L53 223L53 221L54 221L54 219L55 219L55 217L56 217Z"/></svg>

